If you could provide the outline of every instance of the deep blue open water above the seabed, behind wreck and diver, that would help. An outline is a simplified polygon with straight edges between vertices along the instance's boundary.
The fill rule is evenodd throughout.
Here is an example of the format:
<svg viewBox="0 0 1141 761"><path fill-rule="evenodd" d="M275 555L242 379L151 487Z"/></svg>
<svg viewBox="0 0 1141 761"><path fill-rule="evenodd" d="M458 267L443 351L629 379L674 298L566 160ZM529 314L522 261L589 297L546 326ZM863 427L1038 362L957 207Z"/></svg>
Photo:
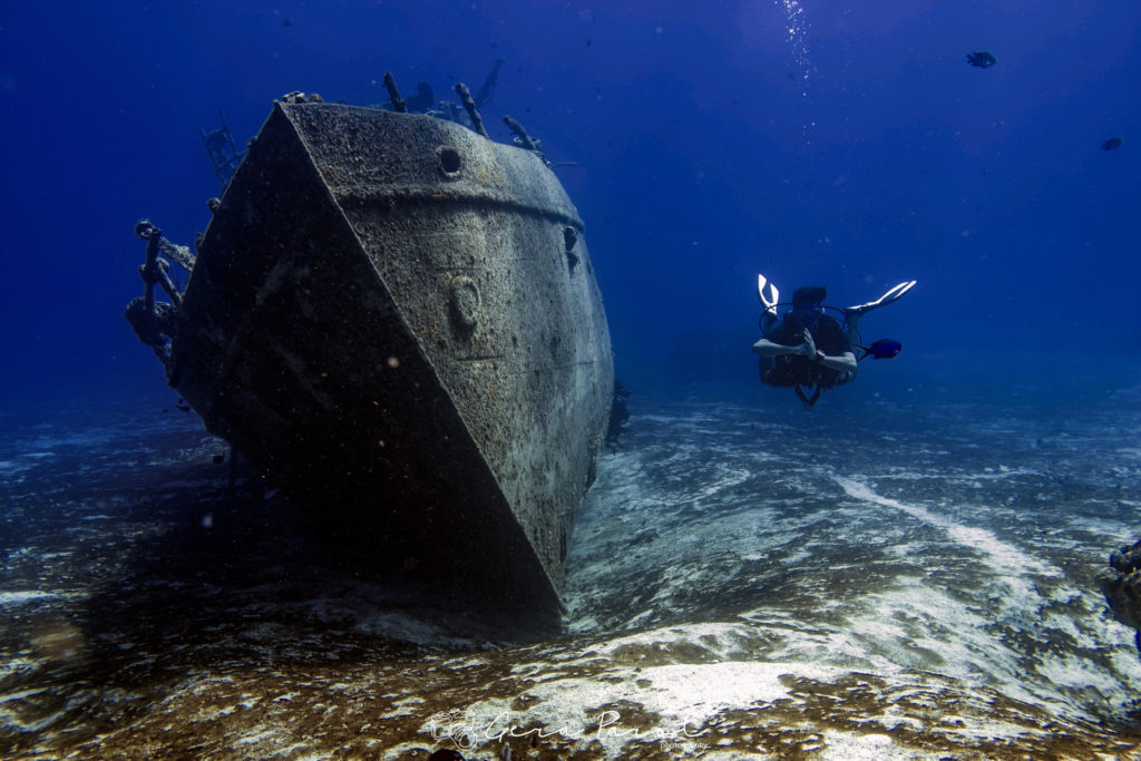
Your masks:
<svg viewBox="0 0 1141 761"><path fill-rule="evenodd" d="M920 281L865 321L904 354L843 394L1043 354L1122 379L1141 350L1136 3L9 2L0 27L9 404L161 389L122 318L132 226L204 228L218 107L244 143L288 91L379 104L390 70L445 96L501 56L485 120L578 163L559 175L633 384L755 384L758 272L839 306Z"/></svg>

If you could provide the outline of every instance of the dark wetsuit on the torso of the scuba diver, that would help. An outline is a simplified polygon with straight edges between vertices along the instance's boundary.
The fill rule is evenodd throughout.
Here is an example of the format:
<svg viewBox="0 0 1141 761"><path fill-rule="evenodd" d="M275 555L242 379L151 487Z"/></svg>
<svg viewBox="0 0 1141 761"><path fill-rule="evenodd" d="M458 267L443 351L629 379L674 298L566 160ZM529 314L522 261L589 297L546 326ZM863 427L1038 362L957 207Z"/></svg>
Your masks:
<svg viewBox="0 0 1141 761"><path fill-rule="evenodd" d="M782 346L799 346L804 342L804 325L794 313L787 313L780 322L774 317L761 319L764 338ZM852 350L852 342L843 325L831 315L820 315L810 329L816 348L830 357ZM799 354L761 357L761 382L766 386L791 388L816 386L834 388L855 378L855 373L841 373L820 362ZM799 390L799 389L798 389Z"/></svg>

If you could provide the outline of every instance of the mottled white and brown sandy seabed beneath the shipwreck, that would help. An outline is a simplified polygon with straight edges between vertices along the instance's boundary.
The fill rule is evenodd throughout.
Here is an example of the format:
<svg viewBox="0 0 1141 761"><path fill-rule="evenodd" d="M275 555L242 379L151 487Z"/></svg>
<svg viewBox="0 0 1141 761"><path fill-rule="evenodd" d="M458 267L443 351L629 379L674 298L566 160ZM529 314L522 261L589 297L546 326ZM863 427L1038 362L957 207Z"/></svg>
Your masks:
<svg viewBox="0 0 1141 761"><path fill-rule="evenodd" d="M1114 403L869 402L868 430L636 397L553 635L372 573L280 496L230 499L181 413L8 415L0 744L1128 758L1141 661L1094 575L1134 531L1141 399Z"/></svg>

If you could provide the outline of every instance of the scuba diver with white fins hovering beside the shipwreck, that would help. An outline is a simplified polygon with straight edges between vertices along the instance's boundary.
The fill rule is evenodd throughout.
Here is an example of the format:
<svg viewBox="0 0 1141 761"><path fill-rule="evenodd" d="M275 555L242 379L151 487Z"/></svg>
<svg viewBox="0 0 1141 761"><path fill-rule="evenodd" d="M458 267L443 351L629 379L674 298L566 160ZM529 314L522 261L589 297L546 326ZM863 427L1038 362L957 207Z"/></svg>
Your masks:
<svg viewBox="0 0 1141 761"><path fill-rule="evenodd" d="M778 316L777 286L758 275L756 292L764 306L761 314L760 341L753 354L761 356L761 382L777 388L794 388L806 410L811 410L826 388L843 386L856 379L861 359L891 359L903 350L903 345L880 339L869 347L860 345L859 319L867 313L897 301L912 290L915 281L907 281L890 289L875 301L847 309L825 306L828 291L823 285L807 285L792 294L792 308ZM827 314L837 313L843 321ZM856 356L856 349L864 354ZM806 391L811 390L811 394Z"/></svg>

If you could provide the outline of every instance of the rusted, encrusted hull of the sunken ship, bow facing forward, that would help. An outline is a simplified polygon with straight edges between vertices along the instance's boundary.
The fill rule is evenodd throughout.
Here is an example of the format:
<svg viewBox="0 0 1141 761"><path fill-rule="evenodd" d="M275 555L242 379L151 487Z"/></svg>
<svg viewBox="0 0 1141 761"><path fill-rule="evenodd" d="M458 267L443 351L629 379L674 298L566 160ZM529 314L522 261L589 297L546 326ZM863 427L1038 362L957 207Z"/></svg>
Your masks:
<svg viewBox="0 0 1141 761"><path fill-rule="evenodd" d="M276 104L200 246L170 383L379 556L555 602L613 391L582 230L534 153Z"/></svg>

